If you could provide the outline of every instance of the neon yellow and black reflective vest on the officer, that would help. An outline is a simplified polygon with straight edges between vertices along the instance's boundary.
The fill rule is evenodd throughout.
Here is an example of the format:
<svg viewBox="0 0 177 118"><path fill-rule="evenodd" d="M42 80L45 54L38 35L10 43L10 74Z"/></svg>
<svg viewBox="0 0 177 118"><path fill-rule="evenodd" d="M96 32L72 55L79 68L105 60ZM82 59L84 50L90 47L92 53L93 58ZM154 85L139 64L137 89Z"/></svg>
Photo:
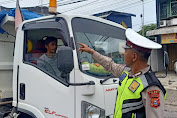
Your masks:
<svg viewBox="0 0 177 118"><path fill-rule="evenodd" d="M165 99L166 90L151 71L137 78L129 78L128 74L123 71L119 80L114 118L146 118L141 92L155 85L162 90Z"/></svg>

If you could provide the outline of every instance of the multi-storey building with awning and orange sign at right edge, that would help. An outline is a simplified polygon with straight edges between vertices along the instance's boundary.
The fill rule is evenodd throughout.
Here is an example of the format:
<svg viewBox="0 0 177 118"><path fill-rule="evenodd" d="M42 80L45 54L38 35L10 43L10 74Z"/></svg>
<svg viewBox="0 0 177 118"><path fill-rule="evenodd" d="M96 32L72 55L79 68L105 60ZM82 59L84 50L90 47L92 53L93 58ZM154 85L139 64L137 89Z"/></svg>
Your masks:
<svg viewBox="0 0 177 118"><path fill-rule="evenodd" d="M156 0L157 29L146 33L157 36L158 42L169 55L169 70L174 70L172 60L177 59L177 0ZM158 53L159 55L160 53ZM160 59L161 57L159 57ZM161 59L162 60L162 59ZM161 62L159 62L161 63Z"/></svg>

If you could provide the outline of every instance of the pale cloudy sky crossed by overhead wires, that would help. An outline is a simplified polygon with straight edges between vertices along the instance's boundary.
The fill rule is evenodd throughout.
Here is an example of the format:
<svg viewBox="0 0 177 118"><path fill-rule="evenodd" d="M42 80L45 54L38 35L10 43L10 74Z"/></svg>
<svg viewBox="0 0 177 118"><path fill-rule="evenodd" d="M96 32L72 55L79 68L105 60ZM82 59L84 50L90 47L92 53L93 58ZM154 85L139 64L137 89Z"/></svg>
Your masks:
<svg viewBox="0 0 177 118"><path fill-rule="evenodd" d="M0 5L4 7L15 7L16 0L0 0ZM59 5L78 0L60 0ZM19 0L21 7L32 7L44 4L47 6L49 0ZM141 0L86 0L70 5L59 6L57 11L65 14L84 14L92 15L109 10L135 14L132 17L133 29L139 31L142 26L140 15L143 13ZM156 23L156 4L155 0L144 0L144 23Z"/></svg>

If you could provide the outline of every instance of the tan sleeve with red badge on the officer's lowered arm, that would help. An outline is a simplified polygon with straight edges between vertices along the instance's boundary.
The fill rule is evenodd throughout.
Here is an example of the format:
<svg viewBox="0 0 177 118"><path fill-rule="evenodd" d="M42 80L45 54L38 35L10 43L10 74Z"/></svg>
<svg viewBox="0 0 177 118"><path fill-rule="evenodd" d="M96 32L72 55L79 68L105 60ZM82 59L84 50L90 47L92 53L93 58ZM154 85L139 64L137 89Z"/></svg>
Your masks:
<svg viewBox="0 0 177 118"><path fill-rule="evenodd" d="M156 96L159 93L159 100ZM150 95L149 95L149 94ZM142 92L142 100L146 110L146 118L164 118L164 95L161 89L157 86L151 86Z"/></svg>

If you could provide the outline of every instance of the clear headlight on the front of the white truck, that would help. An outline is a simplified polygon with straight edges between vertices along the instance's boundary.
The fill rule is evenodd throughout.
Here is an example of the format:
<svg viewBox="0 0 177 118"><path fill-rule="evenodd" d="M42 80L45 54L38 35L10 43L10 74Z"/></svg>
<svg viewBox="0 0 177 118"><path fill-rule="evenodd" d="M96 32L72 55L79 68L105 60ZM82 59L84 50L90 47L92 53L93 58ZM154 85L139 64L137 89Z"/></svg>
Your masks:
<svg viewBox="0 0 177 118"><path fill-rule="evenodd" d="M81 115L82 118L104 118L105 117L105 110L94 106L87 102L81 103Z"/></svg>

